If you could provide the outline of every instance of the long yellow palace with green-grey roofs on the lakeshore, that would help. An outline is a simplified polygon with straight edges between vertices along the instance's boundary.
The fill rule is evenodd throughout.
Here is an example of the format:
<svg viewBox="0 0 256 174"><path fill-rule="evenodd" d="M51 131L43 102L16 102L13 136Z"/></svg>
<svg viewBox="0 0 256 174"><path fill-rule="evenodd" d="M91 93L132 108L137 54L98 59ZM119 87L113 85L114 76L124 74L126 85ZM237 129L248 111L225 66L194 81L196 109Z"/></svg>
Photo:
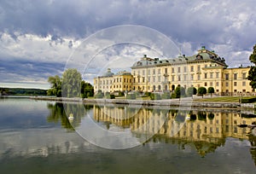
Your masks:
<svg viewBox="0 0 256 174"><path fill-rule="evenodd" d="M247 75L250 67L228 68L224 58L214 51L201 47L196 55L179 55L177 58L159 59L144 55L131 67L131 73L111 73L94 78L94 90L103 92L173 91L180 85L185 89L194 86L213 87L219 95L250 93L253 89Z"/></svg>

